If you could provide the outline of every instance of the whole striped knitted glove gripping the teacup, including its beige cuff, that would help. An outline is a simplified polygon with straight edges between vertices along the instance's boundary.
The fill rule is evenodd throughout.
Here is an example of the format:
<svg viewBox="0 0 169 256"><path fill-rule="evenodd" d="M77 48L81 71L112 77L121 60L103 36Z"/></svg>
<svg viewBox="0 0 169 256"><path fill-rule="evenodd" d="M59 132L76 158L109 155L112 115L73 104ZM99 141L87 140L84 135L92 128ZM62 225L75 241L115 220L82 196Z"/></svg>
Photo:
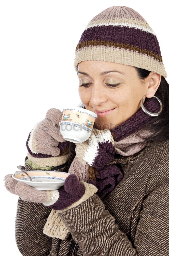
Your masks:
<svg viewBox="0 0 169 256"><path fill-rule="evenodd" d="M46 118L37 123L30 132L27 141L26 164L34 170L55 170L68 166L71 155L69 141L65 141L60 133L62 112L49 109ZM67 168L68 169L68 168Z"/></svg>

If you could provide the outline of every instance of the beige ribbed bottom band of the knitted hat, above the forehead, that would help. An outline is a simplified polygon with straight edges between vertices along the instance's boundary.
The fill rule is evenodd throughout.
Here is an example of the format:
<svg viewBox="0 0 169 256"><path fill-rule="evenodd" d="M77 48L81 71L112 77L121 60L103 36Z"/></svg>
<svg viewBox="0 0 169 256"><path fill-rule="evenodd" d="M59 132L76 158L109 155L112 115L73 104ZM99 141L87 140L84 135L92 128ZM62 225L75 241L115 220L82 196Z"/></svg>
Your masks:
<svg viewBox="0 0 169 256"><path fill-rule="evenodd" d="M134 52L133 50L109 47L109 46L89 46L82 47L76 51L74 61L75 70L78 71L78 63L85 60L100 60L120 63L124 65L134 66L150 70L163 77L167 77L163 63L147 56L146 54Z"/></svg>

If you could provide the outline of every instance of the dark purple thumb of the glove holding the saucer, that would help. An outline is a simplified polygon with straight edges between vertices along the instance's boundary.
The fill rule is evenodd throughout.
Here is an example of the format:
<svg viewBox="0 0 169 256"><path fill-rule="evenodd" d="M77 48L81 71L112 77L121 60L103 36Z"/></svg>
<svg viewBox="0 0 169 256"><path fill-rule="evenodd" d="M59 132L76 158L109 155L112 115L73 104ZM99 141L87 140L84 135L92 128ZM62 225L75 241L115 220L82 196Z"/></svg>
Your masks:
<svg viewBox="0 0 169 256"><path fill-rule="evenodd" d="M64 189L67 193L71 194L72 196L77 196L84 193L84 186L82 183L79 182L77 176L75 174L70 174L64 183Z"/></svg>

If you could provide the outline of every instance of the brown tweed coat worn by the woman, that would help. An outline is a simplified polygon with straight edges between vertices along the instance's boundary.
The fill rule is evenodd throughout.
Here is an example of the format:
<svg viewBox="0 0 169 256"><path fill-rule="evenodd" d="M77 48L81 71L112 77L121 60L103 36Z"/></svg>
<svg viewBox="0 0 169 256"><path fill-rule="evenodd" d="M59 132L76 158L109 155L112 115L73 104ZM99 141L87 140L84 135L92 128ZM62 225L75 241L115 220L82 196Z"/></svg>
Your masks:
<svg viewBox="0 0 169 256"><path fill-rule="evenodd" d="M60 171L67 172L72 154ZM43 227L51 209L18 200L16 243L24 256L168 256L169 140L153 143L131 156L115 153L109 164L123 173L119 184L101 200L96 194L59 213L70 231L66 240L51 238ZM25 169L33 168L26 163ZM58 170L57 170L58 171ZM76 252L74 248L76 247Z"/></svg>

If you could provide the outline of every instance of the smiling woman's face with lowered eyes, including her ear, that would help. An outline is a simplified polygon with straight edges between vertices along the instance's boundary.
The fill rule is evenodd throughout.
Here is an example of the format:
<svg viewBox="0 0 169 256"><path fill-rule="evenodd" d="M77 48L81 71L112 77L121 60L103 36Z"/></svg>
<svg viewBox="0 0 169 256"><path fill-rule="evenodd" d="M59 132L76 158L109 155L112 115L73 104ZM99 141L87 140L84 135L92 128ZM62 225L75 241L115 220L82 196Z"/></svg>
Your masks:
<svg viewBox="0 0 169 256"><path fill-rule="evenodd" d="M156 74L153 81L146 78L143 84L134 67L97 60L80 62L77 75L80 99L86 109L97 114L95 124L99 130L114 129L135 114L141 107L142 97L148 93L151 98L155 94L153 81L157 83L160 77ZM110 111L101 113L106 110Z"/></svg>

